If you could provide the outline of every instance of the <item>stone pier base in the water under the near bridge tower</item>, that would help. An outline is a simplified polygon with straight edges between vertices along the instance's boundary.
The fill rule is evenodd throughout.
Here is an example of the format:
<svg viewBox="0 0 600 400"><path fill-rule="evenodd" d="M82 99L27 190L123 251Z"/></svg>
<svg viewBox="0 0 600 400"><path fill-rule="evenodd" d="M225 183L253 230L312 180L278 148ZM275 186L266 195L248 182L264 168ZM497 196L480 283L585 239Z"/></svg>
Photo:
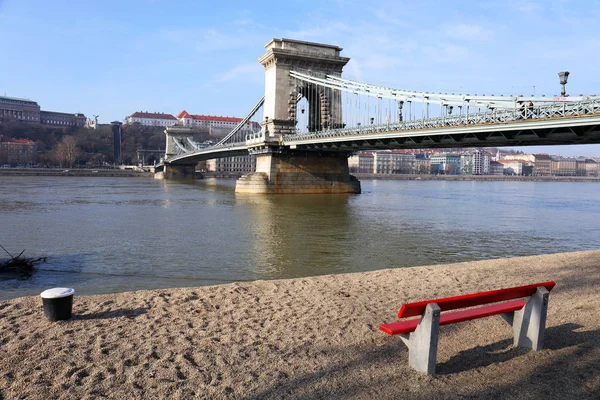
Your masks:
<svg viewBox="0 0 600 400"><path fill-rule="evenodd" d="M290 152L259 154L256 172L238 179L236 193L360 193L360 182L348 172L346 154Z"/></svg>

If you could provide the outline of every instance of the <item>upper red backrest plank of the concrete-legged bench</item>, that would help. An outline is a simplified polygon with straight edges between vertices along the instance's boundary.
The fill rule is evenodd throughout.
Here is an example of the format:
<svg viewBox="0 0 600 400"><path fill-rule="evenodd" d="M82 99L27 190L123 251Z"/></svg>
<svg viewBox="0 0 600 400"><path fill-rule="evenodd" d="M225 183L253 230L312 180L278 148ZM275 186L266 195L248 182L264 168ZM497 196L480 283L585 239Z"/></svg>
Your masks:
<svg viewBox="0 0 600 400"><path fill-rule="evenodd" d="M416 317L425 312L427 304L436 303L441 311L455 310L457 308L466 308L480 306L482 304L497 303L499 301L519 299L533 295L537 288L543 286L547 291L551 291L556 283L543 282L534 285L517 286L507 289L491 290L489 292L480 292L465 294L461 296L445 297L443 299L418 301L416 303L407 303L402 306L398 312L398 318Z"/></svg>

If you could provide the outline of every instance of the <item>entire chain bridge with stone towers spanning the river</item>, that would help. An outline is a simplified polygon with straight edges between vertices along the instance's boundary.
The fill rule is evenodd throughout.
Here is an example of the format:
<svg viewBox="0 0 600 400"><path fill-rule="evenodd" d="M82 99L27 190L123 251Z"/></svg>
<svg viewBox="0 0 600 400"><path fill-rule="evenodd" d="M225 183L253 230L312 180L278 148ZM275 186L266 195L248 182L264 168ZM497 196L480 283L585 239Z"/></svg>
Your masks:
<svg viewBox="0 0 600 400"><path fill-rule="evenodd" d="M236 192L359 193L348 156L360 150L600 143L600 96L388 88L342 78L350 59L340 47L290 39L265 47L264 96L214 144L167 128L157 178L190 177L199 161L252 154L256 172L241 177Z"/></svg>

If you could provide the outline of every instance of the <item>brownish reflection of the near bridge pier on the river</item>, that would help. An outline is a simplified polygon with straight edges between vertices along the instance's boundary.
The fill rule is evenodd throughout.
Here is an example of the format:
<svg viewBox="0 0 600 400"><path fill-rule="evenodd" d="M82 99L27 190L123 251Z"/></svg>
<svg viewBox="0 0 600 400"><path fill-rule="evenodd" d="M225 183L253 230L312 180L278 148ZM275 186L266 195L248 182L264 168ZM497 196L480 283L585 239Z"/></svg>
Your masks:
<svg viewBox="0 0 600 400"><path fill-rule="evenodd" d="M236 195L253 233L252 271L257 278L339 271L351 236L350 195Z"/></svg>

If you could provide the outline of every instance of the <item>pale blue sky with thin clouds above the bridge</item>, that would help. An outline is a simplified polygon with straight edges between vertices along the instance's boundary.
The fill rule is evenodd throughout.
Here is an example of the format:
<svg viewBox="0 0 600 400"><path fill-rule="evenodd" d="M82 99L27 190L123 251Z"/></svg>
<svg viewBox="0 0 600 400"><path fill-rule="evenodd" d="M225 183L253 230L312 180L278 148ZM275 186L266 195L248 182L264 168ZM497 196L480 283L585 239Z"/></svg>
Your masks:
<svg viewBox="0 0 600 400"><path fill-rule="evenodd" d="M568 70L568 93L600 94L598 21L592 0L0 0L0 93L100 122L243 117L264 92L257 59L283 37L343 47L344 75L373 84L553 95Z"/></svg>

